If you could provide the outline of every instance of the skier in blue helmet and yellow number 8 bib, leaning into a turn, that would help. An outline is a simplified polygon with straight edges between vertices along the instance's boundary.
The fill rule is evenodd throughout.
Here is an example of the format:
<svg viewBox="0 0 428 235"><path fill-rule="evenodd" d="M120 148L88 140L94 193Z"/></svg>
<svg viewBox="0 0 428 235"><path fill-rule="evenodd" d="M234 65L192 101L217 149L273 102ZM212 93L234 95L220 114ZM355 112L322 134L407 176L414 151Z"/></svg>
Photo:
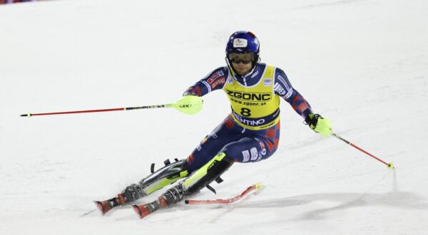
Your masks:
<svg viewBox="0 0 428 235"><path fill-rule="evenodd" d="M168 184L183 179L168 189L155 202L138 209L141 216L158 208L180 202L223 174L234 162L258 162L277 150L280 139L280 98L290 103L306 124L323 136L332 132L330 121L314 114L307 101L295 90L280 68L260 63L260 44L250 31L233 33L226 45L227 66L220 67L185 90L178 100L183 113L202 109L202 96L213 90L224 90L232 112L215 127L187 159L170 163L153 171L138 184L131 184L121 194L96 202L104 214L112 207L133 202Z"/></svg>

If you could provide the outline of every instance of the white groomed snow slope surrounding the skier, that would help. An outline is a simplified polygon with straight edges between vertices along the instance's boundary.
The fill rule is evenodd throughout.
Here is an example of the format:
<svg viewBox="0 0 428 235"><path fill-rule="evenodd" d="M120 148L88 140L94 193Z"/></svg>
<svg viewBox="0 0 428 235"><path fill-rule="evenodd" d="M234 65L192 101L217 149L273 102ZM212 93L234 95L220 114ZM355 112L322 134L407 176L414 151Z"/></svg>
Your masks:
<svg viewBox="0 0 428 235"><path fill-rule="evenodd" d="M428 2L42 1L0 6L0 234L428 234ZM282 100L274 156L234 164L194 199L140 220L107 199L170 157L187 157L230 112L19 117L171 103L224 66L225 43L255 32L334 131L387 167L302 124ZM163 192L163 190L161 190ZM141 199L149 202L160 193Z"/></svg>

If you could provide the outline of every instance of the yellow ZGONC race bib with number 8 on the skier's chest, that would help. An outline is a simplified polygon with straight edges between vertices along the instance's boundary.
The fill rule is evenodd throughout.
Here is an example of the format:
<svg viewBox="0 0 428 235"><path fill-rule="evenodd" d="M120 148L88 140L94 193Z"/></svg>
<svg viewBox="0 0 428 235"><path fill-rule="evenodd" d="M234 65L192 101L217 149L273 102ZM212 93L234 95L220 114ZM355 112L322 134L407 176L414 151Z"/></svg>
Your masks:
<svg viewBox="0 0 428 235"><path fill-rule="evenodd" d="M223 90L232 106L233 120L249 130L262 130L280 120L280 97L273 90L275 67L266 66L257 84L241 85L229 77ZM250 78L257 79L257 78Z"/></svg>

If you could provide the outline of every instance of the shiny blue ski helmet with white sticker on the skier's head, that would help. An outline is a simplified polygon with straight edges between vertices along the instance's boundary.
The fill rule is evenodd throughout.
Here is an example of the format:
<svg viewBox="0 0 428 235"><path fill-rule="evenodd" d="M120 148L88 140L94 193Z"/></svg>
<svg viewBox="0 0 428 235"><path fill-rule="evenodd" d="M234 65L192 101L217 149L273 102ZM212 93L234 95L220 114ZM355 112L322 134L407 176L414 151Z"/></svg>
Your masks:
<svg viewBox="0 0 428 235"><path fill-rule="evenodd" d="M260 43L254 33L250 31L236 31L230 36L228 44L226 45L226 57L229 63L229 55L231 53L254 53L253 66L255 66L255 63L258 62L259 59L259 51Z"/></svg>

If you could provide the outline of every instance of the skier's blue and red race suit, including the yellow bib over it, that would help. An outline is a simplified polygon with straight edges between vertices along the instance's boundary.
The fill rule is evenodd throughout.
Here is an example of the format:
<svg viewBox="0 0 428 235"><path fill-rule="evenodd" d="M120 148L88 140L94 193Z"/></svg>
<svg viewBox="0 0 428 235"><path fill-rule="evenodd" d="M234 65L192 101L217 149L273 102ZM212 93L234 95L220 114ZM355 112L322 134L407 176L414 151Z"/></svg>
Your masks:
<svg viewBox="0 0 428 235"><path fill-rule="evenodd" d="M189 173L209 162L218 152L235 162L258 162L270 157L280 140L280 97L305 119L312 113L280 68L257 63L245 76L234 75L227 66L209 73L185 91L203 96L224 90L232 113L210 132L187 158Z"/></svg>

